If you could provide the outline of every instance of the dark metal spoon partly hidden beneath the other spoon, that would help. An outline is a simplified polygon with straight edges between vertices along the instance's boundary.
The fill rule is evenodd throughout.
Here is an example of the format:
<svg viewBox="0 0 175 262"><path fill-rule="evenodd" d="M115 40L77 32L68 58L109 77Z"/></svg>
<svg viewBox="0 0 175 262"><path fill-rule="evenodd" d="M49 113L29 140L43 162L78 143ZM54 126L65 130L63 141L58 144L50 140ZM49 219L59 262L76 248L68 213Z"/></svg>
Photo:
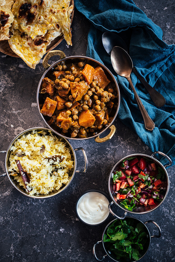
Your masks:
<svg viewBox="0 0 175 262"><path fill-rule="evenodd" d="M102 35L102 43L103 43L103 46L106 52L109 55L111 55L111 51L114 46L120 46L126 52L128 52L128 48L127 48L125 41L120 36L116 35L113 32L104 32ZM137 73L137 70L135 69L135 67L133 67L133 72L136 74L138 79L140 79L142 84L145 86L146 90L150 94L150 97L152 101L155 103L155 105L157 107L164 106L166 102L164 97L158 91L156 91L150 84L148 84L147 81L145 81L145 79L141 75Z"/></svg>

